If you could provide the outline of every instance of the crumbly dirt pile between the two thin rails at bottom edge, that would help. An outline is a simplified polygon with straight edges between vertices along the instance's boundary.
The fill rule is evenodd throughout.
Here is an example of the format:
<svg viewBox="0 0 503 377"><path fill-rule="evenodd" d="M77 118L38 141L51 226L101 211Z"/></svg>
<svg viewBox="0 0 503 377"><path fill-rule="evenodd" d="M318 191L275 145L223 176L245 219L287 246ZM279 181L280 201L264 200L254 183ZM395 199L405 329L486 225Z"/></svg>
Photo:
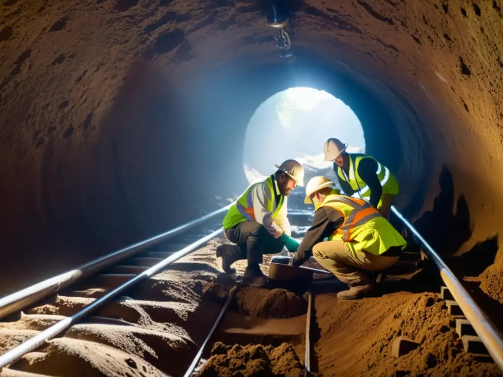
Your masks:
<svg viewBox="0 0 503 377"><path fill-rule="evenodd" d="M303 371L304 366L291 344L283 343L275 348L262 344L226 346L217 342L198 376L298 377Z"/></svg>

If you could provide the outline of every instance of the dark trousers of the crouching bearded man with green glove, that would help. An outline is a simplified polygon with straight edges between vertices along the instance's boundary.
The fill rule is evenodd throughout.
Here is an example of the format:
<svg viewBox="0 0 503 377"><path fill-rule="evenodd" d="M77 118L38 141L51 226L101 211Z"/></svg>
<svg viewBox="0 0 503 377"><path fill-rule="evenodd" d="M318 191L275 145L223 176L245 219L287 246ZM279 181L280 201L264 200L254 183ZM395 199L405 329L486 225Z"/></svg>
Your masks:
<svg viewBox="0 0 503 377"><path fill-rule="evenodd" d="M277 254L283 250L285 243L274 238L256 221L239 223L225 229L225 237L236 244L236 259L247 259L249 264L262 263L264 254Z"/></svg>

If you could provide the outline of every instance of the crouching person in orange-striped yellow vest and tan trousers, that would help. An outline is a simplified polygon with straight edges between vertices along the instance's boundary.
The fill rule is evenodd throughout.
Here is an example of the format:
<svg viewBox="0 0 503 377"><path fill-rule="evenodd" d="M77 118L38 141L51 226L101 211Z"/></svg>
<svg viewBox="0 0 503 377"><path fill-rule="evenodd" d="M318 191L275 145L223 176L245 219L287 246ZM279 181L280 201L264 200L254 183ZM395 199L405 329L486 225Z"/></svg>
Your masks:
<svg viewBox="0 0 503 377"><path fill-rule="evenodd" d="M406 241L379 211L362 199L341 195L326 177L309 180L304 203L313 203L316 212L289 264L300 266L313 255L349 286L337 294L339 299L370 295L375 277L368 271L381 271L396 263ZM323 241L325 238L328 240Z"/></svg>

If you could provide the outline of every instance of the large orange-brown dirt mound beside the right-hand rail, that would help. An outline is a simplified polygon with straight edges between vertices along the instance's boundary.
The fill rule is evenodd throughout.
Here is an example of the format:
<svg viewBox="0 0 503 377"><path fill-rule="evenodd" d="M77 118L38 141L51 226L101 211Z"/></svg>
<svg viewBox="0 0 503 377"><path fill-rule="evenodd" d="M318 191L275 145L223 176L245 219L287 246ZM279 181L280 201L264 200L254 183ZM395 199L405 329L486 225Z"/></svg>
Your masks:
<svg viewBox="0 0 503 377"><path fill-rule="evenodd" d="M463 351L455 321L435 294L397 293L354 302L316 297L321 340L316 345L324 375L500 375ZM406 336L420 345L395 358L393 340ZM337 346L334 346L337 345Z"/></svg>

